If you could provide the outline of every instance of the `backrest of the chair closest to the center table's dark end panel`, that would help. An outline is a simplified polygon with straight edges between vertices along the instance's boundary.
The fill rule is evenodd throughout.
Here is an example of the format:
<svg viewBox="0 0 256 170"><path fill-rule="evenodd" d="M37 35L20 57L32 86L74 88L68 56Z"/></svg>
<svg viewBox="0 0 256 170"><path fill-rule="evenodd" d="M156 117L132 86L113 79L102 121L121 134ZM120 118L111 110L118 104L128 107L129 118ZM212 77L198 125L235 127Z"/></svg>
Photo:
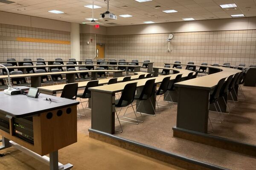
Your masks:
<svg viewBox="0 0 256 170"><path fill-rule="evenodd" d="M125 101L126 106L130 105L134 100L136 88L137 88L137 82L133 82L125 85L125 88L122 91L122 94L116 106L120 107L123 101Z"/></svg>

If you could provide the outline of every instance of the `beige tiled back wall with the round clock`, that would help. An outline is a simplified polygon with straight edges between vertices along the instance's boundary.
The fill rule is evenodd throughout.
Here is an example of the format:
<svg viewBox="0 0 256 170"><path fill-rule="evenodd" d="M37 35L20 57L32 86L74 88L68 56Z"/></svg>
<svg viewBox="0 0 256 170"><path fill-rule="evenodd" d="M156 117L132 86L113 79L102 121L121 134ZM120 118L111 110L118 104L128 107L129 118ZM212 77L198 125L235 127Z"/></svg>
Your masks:
<svg viewBox="0 0 256 170"><path fill-rule="evenodd" d="M169 34L108 36L108 58L150 59L154 65L189 61L195 64L231 62L233 65L256 64L256 30L204 31L173 33L171 52L167 52Z"/></svg>

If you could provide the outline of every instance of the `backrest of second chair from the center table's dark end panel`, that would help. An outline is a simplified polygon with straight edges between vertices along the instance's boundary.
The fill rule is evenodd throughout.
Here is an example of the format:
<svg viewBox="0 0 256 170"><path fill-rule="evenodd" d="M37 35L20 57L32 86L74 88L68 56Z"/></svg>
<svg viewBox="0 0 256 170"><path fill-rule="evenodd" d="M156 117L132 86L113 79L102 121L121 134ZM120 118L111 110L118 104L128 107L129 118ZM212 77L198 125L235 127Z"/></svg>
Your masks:
<svg viewBox="0 0 256 170"><path fill-rule="evenodd" d="M140 94L139 100L146 100L154 94L154 82L156 79L149 79L143 86L143 90Z"/></svg>

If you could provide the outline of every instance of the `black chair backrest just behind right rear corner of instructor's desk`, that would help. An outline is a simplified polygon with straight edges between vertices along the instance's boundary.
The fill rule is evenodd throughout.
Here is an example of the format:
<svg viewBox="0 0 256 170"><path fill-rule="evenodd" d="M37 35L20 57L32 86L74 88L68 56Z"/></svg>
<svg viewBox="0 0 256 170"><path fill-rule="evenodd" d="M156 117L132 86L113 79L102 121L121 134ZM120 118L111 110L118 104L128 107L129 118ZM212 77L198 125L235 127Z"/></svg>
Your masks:
<svg viewBox="0 0 256 170"><path fill-rule="evenodd" d="M78 89L78 83L67 84L63 88L61 97L74 100L76 99L77 89Z"/></svg>

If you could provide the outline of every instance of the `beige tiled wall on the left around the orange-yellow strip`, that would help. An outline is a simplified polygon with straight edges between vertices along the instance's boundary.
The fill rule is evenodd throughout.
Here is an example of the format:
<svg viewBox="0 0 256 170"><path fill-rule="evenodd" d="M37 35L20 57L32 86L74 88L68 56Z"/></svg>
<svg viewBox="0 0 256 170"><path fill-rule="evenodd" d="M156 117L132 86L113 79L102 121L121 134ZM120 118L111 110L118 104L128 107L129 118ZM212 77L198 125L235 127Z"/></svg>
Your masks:
<svg viewBox="0 0 256 170"><path fill-rule="evenodd" d="M70 58L70 44L21 42L16 41L16 37L70 41L70 32L0 24L0 60Z"/></svg>

